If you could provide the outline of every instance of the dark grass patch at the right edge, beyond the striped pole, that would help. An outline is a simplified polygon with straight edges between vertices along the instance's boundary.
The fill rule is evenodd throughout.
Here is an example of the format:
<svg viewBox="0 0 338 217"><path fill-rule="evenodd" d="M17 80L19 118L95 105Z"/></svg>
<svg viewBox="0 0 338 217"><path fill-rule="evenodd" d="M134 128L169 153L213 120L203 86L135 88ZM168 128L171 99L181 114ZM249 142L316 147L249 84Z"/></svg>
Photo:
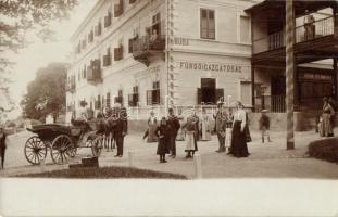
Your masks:
<svg viewBox="0 0 338 217"><path fill-rule="evenodd" d="M308 154L314 158L338 163L338 138L311 142Z"/></svg>

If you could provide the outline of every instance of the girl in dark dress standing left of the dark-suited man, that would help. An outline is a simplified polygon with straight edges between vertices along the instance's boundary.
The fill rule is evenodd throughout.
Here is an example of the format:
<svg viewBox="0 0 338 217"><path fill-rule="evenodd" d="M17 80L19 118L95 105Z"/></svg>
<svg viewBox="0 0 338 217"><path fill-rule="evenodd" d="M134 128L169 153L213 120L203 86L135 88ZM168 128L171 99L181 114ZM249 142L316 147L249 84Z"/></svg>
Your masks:
<svg viewBox="0 0 338 217"><path fill-rule="evenodd" d="M166 163L165 154L170 153L168 150L170 130L171 129L166 124L165 117L162 117L160 126L158 126L154 131L155 136L159 138L157 154L160 155L160 163Z"/></svg>

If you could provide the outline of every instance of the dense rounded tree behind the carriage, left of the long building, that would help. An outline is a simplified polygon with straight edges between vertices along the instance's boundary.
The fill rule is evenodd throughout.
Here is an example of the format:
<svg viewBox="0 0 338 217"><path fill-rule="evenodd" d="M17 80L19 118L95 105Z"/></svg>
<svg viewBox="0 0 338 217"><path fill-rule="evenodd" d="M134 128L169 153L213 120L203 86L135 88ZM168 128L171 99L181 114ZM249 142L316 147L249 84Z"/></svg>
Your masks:
<svg viewBox="0 0 338 217"><path fill-rule="evenodd" d="M36 72L21 102L24 117L45 119L52 114L55 120L65 111L66 67L64 63L51 63Z"/></svg>

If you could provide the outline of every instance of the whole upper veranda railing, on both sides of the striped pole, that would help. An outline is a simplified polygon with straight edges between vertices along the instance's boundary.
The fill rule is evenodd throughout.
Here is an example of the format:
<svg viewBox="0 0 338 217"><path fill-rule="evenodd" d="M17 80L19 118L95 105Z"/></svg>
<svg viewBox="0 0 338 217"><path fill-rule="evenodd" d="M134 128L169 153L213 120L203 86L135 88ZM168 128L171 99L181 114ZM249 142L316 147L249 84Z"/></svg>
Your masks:
<svg viewBox="0 0 338 217"><path fill-rule="evenodd" d="M296 27L296 43L335 34L334 16ZM285 47L285 31L277 31L253 41L253 53L262 53Z"/></svg>

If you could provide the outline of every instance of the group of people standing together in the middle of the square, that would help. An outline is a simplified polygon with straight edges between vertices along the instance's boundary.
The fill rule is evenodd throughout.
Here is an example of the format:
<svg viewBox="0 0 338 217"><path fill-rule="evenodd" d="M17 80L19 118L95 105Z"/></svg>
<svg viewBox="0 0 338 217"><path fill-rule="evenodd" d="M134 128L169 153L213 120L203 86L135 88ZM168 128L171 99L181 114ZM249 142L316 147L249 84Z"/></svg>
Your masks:
<svg viewBox="0 0 338 217"><path fill-rule="evenodd" d="M217 153L228 151L227 154L236 157L247 157L250 155L247 142L251 141L248 115L241 102L237 102L235 110L233 114L231 110L227 111L223 102L220 102L214 115L214 129L204 110L201 118L195 110L191 110L191 114L185 120L181 113L176 116L174 110L170 108L168 116L162 117L159 124L154 113L151 112L145 138L148 137L148 142L158 141L157 154L160 155L161 163L166 163L166 154L171 154L172 158L176 157L176 140L185 141L186 158L193 158L198 151L198 141L211 140L212 131L217 135L220 144Z"/></svg>

